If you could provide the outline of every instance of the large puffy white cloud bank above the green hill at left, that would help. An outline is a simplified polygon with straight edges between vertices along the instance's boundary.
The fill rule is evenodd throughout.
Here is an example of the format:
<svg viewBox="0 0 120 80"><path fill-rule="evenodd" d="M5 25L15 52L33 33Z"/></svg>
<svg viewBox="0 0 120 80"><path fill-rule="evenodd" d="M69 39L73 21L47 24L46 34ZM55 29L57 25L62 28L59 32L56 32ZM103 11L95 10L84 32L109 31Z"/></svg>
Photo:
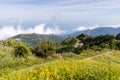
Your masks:
<svg viewBox="0 0 120 80"><path fill-rule="evenodd" d="M48 27L45 28L45 24L36 25L34 28L22 29L22 26L18 25L17 28L14 26L4 26L0 28L0 40L7 39L9 37L18 35L18 34L63 34L66 31L62 31L58 27Z"/></svg>

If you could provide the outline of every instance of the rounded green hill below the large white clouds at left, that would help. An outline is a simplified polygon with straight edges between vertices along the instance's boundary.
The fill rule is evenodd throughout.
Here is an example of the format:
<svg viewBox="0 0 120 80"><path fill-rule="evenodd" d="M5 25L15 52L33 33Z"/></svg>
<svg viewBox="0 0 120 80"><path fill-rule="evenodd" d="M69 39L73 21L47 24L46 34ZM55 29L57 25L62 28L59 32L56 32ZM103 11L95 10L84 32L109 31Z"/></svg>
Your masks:
<svg viewBox="0 0 120 80"><path fill-rule="evenodd" d="M16 41L25 42L29 46L36 46L40 41L43 40L51 40L54 42L61 42L64 40L63 37L57 35L44 35L44 34L19 34L17 36L12 37L12 39Z"/></svg>

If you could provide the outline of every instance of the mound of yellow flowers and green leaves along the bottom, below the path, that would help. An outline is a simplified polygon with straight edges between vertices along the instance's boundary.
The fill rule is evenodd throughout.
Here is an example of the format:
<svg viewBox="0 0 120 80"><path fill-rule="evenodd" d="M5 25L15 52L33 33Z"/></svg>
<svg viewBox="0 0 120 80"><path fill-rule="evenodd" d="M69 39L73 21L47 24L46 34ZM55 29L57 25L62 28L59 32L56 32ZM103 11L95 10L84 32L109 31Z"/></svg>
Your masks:
<svg viewBox="0 0 120 80"><path fill-rule="evenodd" d="M120 65L91 59L56 60L1 80L120 80Z"/></svg>

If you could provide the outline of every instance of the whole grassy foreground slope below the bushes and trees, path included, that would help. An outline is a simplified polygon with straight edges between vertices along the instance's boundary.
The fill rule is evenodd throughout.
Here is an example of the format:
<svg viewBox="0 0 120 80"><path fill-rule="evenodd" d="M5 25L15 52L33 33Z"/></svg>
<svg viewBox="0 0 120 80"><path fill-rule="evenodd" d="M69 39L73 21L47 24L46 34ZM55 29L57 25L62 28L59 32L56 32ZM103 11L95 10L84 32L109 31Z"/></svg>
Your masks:
<svg viewBox="0 0 120 80"><path fill-rule="evenodd" d="M33 55L27 59L14 57L12 51L0 46L0 80L120 79L120 51L86 50L80 55L64 53L48 59ZM31 67L35 65L38 66Z"/></svg>

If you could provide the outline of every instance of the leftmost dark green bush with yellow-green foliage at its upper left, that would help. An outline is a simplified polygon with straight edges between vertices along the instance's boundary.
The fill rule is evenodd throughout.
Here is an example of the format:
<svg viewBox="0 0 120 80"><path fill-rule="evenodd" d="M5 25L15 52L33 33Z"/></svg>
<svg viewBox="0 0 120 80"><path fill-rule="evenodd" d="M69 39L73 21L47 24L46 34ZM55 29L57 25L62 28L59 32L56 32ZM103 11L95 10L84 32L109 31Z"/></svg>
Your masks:
<svg viewBox="0 0 120 80"><path fill-rule="evenodd" d="M3 41L4 47L12 47L13 48L13 55L17 57L27 57L31 54L31 51L28 46L26 46L23 42L17 42L13 39L4 40Z"/></svg>

